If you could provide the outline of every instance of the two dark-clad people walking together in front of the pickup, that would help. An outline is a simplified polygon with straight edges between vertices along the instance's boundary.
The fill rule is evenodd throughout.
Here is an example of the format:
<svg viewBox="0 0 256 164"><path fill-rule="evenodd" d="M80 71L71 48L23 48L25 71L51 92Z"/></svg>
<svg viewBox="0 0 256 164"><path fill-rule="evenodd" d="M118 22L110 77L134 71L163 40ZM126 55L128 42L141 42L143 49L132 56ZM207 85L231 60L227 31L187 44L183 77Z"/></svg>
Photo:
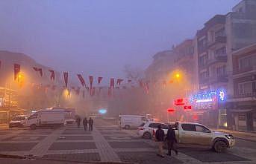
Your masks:
<svg viewBox="0 0 256 164"><path fill-rule="evenodd" d="M175 131L172 128L172 125L169 125L166 136L164 134L164 131L163 131L161 125L158 125L157 131L155 133L155 140L158 142L158 148L159 148L159 152L157 154L158 156L164 157L164 155L163 155L164 142L166 142L167 146L168 146L167 155L171 156L172 150L175 151L176 155L178 155L178 150L176 148L177 140L176 140Z"/></svg>

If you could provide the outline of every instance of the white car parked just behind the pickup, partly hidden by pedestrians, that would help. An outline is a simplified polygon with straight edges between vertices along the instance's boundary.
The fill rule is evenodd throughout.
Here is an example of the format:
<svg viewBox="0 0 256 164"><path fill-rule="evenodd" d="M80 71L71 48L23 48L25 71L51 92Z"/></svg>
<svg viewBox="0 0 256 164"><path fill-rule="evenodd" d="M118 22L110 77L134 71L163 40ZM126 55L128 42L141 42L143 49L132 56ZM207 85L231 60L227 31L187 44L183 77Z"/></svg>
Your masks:
<svg viewBox="0 0 256 164"><path fill-rule="evenodd" d="M165 123L146 122L146 123L142 123L138 128L138 135L146 139L151 139L152 137L154 137L154 132L157 131L158 125L161 125L161 127L163 128L164 134L167 134L168 125L166 125Z"/></svg>

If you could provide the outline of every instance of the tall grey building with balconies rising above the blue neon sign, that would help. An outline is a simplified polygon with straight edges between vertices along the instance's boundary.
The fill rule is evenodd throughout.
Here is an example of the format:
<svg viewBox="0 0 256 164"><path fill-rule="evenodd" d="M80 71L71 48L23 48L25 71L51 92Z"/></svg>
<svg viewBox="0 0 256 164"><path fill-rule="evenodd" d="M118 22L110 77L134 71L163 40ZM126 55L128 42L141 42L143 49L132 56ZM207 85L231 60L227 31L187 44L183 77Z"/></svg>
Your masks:
<svg viewBox="0 0 256 164"><path fill-rule="evenodd" d="M222 89L225 96L233 96L232 52L255 43L255 29L256 1L243 0L233 7L232 12L213 16L202 30L197 31L199 92L217 93ZM227 124L229 112L225 104L219 104L213 109L197 110L201 112L202 118L208 118L208 122L211 119L210 122L217 126L231 128Z"/></svg>

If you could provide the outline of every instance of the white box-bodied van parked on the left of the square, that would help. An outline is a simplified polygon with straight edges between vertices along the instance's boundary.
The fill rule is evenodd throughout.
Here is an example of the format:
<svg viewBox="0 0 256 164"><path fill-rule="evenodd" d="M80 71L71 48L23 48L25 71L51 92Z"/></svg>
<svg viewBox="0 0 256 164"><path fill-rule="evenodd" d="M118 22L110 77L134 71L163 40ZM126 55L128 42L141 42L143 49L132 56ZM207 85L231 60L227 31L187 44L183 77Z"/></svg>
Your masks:
<svg viewBox="0 0 256 164"><path fill-rule="evenodd" d="M64 125L66 111L43 109L32 114L25 122L25 126L36 129L42 126Z"/></svg>

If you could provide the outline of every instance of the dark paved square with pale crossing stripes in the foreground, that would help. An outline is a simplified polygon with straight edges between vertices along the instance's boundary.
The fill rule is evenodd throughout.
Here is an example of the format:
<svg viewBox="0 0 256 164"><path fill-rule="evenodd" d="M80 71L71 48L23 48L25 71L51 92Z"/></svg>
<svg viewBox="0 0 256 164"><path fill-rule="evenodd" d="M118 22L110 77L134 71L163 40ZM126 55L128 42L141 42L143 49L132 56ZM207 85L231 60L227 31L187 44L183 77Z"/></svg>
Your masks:
<svg viewBox="0 0 256 164"><path fill-rule="evenodd" d="M67 125L57 129L0 130L0 154L29 160L0 158L0 163L256 163L256 142L236 140L236 146L218 154L205 148L179 148L178 156L157 157L152 140L114 122L97 119L93 131Z"/></svg>

